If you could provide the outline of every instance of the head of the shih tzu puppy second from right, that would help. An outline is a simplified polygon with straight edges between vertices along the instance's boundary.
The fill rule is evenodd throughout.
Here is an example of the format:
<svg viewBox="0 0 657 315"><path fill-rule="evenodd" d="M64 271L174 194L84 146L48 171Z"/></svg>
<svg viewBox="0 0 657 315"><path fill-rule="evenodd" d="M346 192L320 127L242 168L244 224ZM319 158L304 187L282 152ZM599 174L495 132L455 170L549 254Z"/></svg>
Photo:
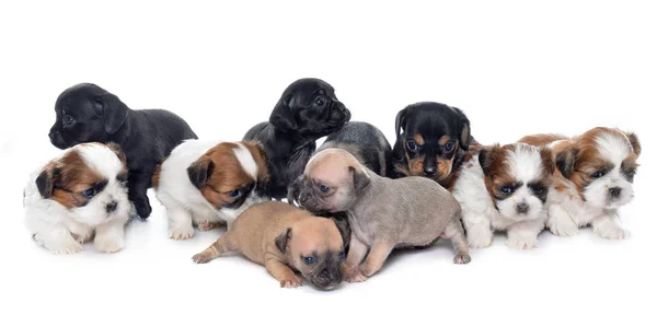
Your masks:
<svg viewBox="0 0 657 315"><path fill-rule="evenodd" d="M544 210L555 165L549 149L515 143L479 153L488 194L502 215L533 220Z"/></svg>

